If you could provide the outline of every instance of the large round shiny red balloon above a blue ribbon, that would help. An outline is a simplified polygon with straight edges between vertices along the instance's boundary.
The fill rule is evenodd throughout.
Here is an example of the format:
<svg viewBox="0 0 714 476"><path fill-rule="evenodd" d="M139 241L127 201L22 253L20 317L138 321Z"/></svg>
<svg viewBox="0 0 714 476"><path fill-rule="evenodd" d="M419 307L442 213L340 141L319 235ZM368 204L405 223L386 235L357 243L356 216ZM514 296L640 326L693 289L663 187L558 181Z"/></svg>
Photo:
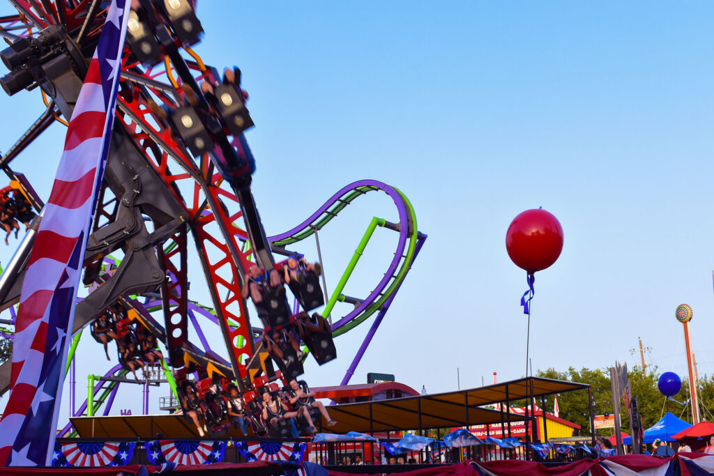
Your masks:
<svg viewBox="0 0 714 476"><path fill-rule="evenodd" d="M544 270L563 250L563 227L553 213L542 208L526 210L508 226L506 250L513 263L528 274Z"/></svg>

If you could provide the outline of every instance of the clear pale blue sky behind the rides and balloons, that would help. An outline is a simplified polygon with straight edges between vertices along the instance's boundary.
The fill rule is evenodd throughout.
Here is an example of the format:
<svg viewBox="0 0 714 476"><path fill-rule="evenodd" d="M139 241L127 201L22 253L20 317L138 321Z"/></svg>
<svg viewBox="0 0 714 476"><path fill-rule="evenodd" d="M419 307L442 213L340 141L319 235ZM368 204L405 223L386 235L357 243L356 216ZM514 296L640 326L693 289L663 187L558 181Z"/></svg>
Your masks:
<svg viewBox="0 0 714 476"><path fill-rule="evenodd" d="M203 0L198 11L196 51L240 66L251 94L268 233L376 178L406 193L429 236L354 383L394 373L437 392L456 388L457 368L461 388L523 375L526 280L504 241L538 206L560 219L565 246L536 275L533 370L631 365L641 336L648 360L684 375L674 310L688 303L700 375L714 371L714 4ZM0 96L0 107L4 151L41 100ZM44 196L63 134L52 126L14 164ZM286 182L304 190L286 197ZM377 196L326 229L328 288L371 217L394 215ZM376 238L355 294L391 258L393 236ZM338 362L308 367L307 380L338 383L366 330L338 338ZM93 341L81 351L101 361Z"/></svg>

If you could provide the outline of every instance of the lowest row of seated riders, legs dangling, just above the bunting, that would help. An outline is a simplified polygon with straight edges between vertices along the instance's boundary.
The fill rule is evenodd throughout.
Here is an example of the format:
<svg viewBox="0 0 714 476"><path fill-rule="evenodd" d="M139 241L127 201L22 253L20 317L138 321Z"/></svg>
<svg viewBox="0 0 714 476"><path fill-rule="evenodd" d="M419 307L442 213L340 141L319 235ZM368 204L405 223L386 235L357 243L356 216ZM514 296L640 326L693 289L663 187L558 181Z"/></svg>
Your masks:
<svg viewBox="0 0 714 476"><path fill-rule="evenodd" d="M283 388L270 383L257 393L242 394L220 376L198 382L184 379L178 388L183 415L201 437L223 435L230 427L239 428L243 435L248 435L250 427L256 436L298 437L316 433L318 418L324 418L328 426L337 423L304 380L290 380Z"/></svg>

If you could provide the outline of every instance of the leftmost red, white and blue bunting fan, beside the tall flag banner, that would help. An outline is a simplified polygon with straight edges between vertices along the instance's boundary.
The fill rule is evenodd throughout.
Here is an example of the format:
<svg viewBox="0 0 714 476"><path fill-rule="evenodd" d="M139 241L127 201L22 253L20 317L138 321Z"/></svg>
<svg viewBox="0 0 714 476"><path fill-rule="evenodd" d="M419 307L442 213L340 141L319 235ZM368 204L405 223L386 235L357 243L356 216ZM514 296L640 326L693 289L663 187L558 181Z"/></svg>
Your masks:
<svg viewBox="0 0 714 476"><path fill-rule="evenodd" d="M52 466L105 467L129 465L136 443L55 442Z"/></svg>

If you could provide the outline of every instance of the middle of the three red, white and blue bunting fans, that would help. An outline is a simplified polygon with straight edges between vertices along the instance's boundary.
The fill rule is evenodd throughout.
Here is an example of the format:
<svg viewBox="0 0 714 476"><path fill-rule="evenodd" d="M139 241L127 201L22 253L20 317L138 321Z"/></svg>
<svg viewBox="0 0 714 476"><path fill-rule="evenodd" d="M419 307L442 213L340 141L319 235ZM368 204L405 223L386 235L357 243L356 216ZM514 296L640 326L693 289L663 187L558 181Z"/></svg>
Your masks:
<svg viewBox="0 0 714 476"><path fill-rule="evenodd" d="M223 461L226 441L154 440L144 443L151 465L211 465Z"/></svg>

